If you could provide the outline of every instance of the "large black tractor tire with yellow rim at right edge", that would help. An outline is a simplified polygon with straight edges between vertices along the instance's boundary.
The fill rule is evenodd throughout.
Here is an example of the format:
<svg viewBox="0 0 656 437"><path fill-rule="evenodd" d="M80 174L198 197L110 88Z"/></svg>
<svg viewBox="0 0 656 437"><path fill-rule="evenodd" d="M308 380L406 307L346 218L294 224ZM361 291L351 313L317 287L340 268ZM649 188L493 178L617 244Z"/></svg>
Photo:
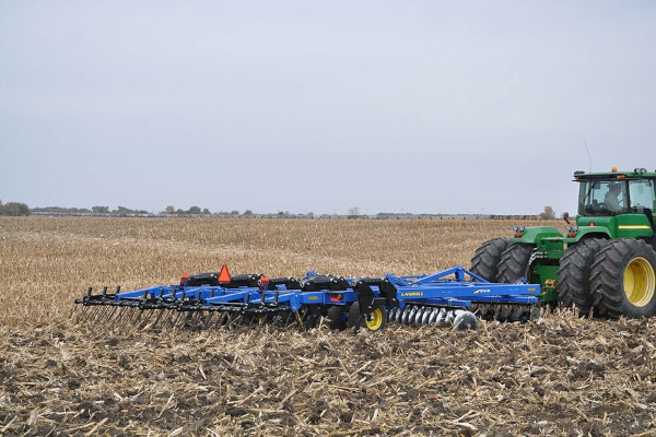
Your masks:
<svg viewBox="0 0 656 437"><path fill-rule="evenodd" d="M595 257L590 290L595 312L610 318L656 314L656 252L645 241L619 238Z"/></svg>

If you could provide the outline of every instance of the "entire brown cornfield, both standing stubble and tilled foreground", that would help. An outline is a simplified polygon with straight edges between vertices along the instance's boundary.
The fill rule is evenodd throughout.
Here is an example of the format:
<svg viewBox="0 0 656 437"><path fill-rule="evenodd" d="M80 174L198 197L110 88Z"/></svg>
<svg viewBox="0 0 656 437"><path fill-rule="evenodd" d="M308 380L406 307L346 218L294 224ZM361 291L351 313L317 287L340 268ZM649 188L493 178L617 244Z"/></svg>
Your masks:
<svg viewBox="0 0 656 437"><path fill-rule="evenodd" d="M432 273L468 267L513 224L0 217L0 435L656 435L653 320L559 309L466 332L257 335L74 323L87 286L175 283L223 263Z"/></svg>

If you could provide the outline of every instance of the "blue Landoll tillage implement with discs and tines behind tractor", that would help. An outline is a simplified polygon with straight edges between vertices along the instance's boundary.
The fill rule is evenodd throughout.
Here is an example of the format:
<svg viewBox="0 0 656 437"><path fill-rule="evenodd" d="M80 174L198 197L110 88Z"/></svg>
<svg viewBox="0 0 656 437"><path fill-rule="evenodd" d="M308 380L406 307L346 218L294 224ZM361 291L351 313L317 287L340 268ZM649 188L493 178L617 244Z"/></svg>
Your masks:
<svg viewBox="0 0 656 437"><path fill-rule="evenodd" d="M315 328L328 317L330 328L361 327L370 331L387 322L422 327L449 324L476 328L477 319L530 321L540 287L495 284L461 267L431 275L344 279L307 272L300 279L269 279L261 274L218 273L183 275L179 285L115 293L103 287L75 299L83 306L78 323L137 330L173 327L188 331L223 329L245 334L263 329ZM321 322L324 324L324 322Z"/></svg>

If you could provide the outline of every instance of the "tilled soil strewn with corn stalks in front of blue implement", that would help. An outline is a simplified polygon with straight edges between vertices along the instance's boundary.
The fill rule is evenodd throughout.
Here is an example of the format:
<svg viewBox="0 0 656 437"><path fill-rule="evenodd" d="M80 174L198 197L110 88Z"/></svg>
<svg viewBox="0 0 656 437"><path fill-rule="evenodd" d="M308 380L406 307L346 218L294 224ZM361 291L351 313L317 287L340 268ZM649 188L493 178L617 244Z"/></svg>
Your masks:
<svg viewBox="0 0 656 437"><path fill-rule="evenodd" d="M3 435L656 435L652 320L2 339Z"/></svg>

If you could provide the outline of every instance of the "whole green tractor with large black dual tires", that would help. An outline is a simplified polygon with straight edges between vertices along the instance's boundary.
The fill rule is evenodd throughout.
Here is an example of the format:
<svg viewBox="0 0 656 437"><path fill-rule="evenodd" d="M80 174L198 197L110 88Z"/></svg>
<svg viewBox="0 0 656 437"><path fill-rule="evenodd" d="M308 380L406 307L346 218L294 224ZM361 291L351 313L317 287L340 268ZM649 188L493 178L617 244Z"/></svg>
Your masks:
<svg viewBox="0 0 656 437"><path fill-rule="evenodd" d="M471 259L471 271L492 282L526 279L539 298L578 308L582 316L656 315L656 172L575 172L576 223L515 226L513 238L493 238Z"/></svg>

